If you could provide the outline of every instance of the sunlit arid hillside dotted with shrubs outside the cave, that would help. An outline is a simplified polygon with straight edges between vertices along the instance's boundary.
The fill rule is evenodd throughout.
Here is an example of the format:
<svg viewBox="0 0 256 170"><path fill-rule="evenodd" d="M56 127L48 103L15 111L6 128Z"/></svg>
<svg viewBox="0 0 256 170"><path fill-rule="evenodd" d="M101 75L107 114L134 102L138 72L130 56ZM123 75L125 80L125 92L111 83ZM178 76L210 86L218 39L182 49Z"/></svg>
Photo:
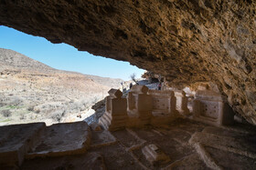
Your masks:
<svg viewBox="0 0 256 170"><path fill-rule="evenodd" d="M0 125L82 120L121 79L61 71L0 49Z"/></svg>

